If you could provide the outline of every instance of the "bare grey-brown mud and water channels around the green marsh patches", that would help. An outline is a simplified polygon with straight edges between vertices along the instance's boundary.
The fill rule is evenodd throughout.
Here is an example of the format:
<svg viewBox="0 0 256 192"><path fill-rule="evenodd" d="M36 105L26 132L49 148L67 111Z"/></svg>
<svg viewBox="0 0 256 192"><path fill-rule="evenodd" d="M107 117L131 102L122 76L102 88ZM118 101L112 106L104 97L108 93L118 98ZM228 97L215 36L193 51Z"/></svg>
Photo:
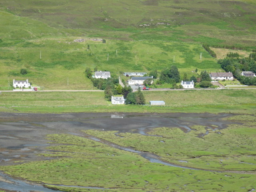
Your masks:
<svg viewBox="0 0 256 192"><path fill-rule="evenodd" d="M136 114L136 113L69 113L69 114L16 114L0 113L0 164L12 165L18 161L45 160L46 157L37 156L46 152L48 144L47 134L74 134L84 136L81 130L102 130L130 132L148 135L147 132L157 127L178 127L189 132L193 125L203 125L221 129L230 122L222 120L230 114ZM206 132L207 134L207 132ZM152 136L152 135L150 135ZM87 137L104 142L115 148L135 152L150 162L161 163L167 166L177 166L160 160L155 154L136 151L99 140L96 137ZM177 166L183 169L188 167ZM194 168L189 168L194 169ZM194 169L197 170L197 169ZM94 187L88 187L94 188ZM0 173L0 189L20 192L42 191L52 192L39 185L31 185L18 178Z"/></svg>

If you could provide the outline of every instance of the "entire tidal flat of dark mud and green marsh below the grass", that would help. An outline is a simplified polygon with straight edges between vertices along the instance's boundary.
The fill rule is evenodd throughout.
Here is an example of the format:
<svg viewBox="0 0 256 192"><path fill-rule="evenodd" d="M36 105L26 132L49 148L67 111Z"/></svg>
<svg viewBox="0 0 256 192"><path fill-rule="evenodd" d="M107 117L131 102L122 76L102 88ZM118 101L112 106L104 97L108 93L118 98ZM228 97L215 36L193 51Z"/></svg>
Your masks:
<svg viewBox="0 0 256 192"><path fill-rule="evenodd" d="M5 174L48 188L247 192L256 187L252 115L0 113L0 132Z"/></svg>

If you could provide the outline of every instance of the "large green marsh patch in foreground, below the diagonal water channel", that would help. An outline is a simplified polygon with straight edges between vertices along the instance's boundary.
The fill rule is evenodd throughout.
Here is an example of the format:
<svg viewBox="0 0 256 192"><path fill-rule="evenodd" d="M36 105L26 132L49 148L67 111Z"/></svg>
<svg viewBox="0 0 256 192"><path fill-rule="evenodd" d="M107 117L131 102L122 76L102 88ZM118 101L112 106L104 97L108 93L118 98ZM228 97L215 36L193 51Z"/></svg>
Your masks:
<svg viewBox="0 0 256 192"><path fill-rule="evenodd" d="M48 139L55 145L48 147L49 153L41 155L54 159L0 168L8 174L46 184L50 188L74 192L243 192L255 186L253 174L218 173L150 163L138 154L69 134L52 134L48 135ZM84 189L79 186L104 189Z"/></svg>

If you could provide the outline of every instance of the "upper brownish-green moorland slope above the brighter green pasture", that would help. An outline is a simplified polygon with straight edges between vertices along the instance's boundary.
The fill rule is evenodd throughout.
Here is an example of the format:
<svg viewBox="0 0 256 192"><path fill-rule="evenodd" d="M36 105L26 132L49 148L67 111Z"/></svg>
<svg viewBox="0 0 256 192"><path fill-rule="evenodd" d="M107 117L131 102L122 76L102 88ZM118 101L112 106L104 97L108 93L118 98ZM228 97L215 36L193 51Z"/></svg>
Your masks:
<svg viewBox="0 0 256 192"><path fill-rule="evenodd" d="M255 46L254 0L78 0L0 2L62 34ZM70 29L75 29L70 32ZM44 36L41 34L40 36ZM235 39L235 40L234 40Z"/></svg>

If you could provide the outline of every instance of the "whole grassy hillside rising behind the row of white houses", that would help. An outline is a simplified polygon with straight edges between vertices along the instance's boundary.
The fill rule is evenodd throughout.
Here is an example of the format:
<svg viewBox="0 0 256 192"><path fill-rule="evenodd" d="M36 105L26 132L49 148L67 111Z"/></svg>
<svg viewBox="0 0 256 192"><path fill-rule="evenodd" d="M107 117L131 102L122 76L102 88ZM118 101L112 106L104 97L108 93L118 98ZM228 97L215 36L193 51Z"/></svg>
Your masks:
<svg viewBox="0 0 256 192"><path fill-rule="evenodd" d="M86 67L113 75L173 64L189 77L195 68L216 72L220 66L202 44L256 48L255 10L253 0L3 0L0 90L13 78L46 89L90 89Z"/></svg>

